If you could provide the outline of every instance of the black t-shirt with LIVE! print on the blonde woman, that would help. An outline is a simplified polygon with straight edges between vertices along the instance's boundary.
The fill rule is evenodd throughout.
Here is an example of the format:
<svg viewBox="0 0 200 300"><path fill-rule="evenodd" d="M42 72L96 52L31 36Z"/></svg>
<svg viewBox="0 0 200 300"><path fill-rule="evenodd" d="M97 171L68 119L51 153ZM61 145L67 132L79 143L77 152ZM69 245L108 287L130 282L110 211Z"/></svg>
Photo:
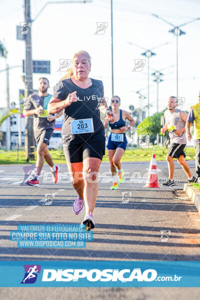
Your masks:
<svg viewBox="0 0 200 300"><path fill-rule="evenodd" d="M69 93L76 91L78 101L72 102L64 109L64 121L62 125L63 145L72 143L84 143L88 140L105 139L104 126L100 120L99 103L103 96L103 83L101 80L91 78L92 84L87 88L77 86L71 78L60 80L55 87L53 97L65 100ZM92 118L93 132L71 133L72 120Z"/></svg>

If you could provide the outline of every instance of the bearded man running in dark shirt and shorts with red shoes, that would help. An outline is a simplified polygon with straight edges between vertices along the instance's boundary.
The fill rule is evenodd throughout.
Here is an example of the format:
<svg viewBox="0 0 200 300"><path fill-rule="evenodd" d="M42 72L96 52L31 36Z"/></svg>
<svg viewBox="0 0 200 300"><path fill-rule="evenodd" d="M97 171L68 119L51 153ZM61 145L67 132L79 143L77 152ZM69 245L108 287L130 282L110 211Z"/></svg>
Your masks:
<svg viewBox="0 0 200 300"><path fill-rule="evenodd" d="M55 115L47 113L47 105L52 96L47 92L48 87L48 79L45 77L39 78L39 92L31 94L23 108L23 114L25 116L34 116L33 131L37 142L37 160L33 174L31 174L26 181L27 184L32 186L39 185L39 175L44 159L50 166L53 183L56 183L58 180L58 166L53 163L52 157L48 152L48 144L55 127L55 118L62 115L62 111Z"/></svg>

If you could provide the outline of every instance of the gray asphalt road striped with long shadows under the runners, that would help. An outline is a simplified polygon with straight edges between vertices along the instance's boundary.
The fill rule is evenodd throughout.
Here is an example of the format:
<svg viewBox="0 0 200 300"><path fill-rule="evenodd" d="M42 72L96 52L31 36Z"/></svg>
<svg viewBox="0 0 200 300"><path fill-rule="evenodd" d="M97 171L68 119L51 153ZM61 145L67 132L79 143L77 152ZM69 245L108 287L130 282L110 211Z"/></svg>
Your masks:
<svg viewBox="0 0 200 300"><path fill-rule="evenodd" d="M194 174L194 161L188 161ZM94 210L93 241L85 248L18 248L10 241L10 230L18 224L77 224L84 213L74 215L76 196L65 165L59 180L51 182L44 166L40 186L20 185L23 165L0 166L0 260L198 260L200 258L200 215L179 190L187 181L175 162L176 185L161 187L167 178L165 161L158 161L160 188L144 188L149 162L122 164L125 182L110 190L109 164L102 163ZM43 205L45 194L52 204ZM125 197L124 197L125 194ZM163 240L160 230L169 230ZM168 232L169 232L168 231ZM28 290L28 291L27 291ZM194 299L199 288L1 288L1 299ZM67 297L66 297L67 294Z"/></svg>

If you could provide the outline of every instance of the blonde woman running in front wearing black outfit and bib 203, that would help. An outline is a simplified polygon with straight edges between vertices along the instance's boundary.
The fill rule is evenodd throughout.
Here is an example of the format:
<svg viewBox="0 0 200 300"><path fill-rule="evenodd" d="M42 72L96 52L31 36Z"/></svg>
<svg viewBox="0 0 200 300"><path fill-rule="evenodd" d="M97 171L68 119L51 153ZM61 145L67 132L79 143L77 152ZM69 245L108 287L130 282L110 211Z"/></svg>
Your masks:
<svg viewBox="0 0 200 300"><path fill-rule="evenodd" d="M71 68L55 87L49 113L64 109L62 145L72 185L77 192L73 213L84 209L82 223L94 227L93 210L98 192L98 170L105 151L104 126L100 111L114 122L114 113L103 98L101 80L89 78L91 57L86 51L73 55ZM81 176L79 176L81 175Z"/></svg>

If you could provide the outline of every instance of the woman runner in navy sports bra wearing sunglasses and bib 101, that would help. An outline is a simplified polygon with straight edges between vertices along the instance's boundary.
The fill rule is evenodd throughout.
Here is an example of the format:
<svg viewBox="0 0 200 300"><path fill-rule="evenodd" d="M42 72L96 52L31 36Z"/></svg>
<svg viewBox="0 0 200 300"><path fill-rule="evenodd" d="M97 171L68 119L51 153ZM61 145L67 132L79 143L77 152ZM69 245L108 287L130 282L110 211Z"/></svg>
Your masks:
<svg viewBox="0 0 200 300"><path fill-rule="evenodd" d="M135 123L135 121L127 111L119 109L119 105L120 105L120 98L118 96L113 96L111 98L111 108L115 114L115 120L117 121L111 124L107 116L104 117L104 121L103 121L104 128L106 128L107 123L109 123L111 129L107 141L107 152L108 152L110 170L112 173L112 181L113 181L113 184L110 187L110 189L118 188L117 172L118 172L118 182L123 183L124 181L123 170L121 169L120 159L127 145L125 131L128 130ZM129 121L129 124L127 126L125 126L126 119Z"/></svg>

